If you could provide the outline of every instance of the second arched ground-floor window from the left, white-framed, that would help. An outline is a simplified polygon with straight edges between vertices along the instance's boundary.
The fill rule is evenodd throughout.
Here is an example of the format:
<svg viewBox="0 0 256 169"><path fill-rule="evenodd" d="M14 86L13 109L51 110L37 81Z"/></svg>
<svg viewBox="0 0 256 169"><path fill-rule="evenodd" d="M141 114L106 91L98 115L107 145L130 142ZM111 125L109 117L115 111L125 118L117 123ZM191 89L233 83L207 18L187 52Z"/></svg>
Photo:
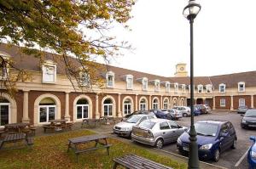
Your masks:
<svg viewBox="0 0 256 169"><path fill-rule="evenodd" d="M55 120L56 105L55 100L44 98L39 103L39 122L48 122Z"/></svg>

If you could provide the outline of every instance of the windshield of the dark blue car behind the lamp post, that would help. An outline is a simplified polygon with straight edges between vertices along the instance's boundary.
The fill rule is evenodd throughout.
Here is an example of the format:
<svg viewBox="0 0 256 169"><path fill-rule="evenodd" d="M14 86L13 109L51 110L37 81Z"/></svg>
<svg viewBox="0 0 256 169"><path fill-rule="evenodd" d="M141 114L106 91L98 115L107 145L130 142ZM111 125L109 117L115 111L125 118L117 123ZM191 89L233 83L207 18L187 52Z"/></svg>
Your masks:
<svg viewBox="0 0 256 169"><path fill-rule="evenodd" d="M197 122L195 123L195 131L198 135L216 136L218 132L218 126L209 123Z"/></svg>

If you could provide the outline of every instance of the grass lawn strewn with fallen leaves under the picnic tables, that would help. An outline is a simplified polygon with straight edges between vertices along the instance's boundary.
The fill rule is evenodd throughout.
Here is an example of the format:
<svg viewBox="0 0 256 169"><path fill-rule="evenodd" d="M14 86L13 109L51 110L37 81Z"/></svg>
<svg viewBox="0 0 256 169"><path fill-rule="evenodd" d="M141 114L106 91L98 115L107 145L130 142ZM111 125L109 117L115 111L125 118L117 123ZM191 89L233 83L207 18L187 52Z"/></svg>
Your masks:
<svg viewBox="0 0 256 169"><path fill-rule="evenodd" d="M112 168L113 158L134 154L159 162L173 168L187 168L186 164L172 161L168 156L157 155L136 145L126 144L114 138L108 138L108 144L113 144L109 149L97 149L79 155L73 150L67 153L67 139L93 134L90 131L63 132L52 136L34 138L32 149L1 149L1 168ZM7 144L8 146L8 144Z"/></svg>

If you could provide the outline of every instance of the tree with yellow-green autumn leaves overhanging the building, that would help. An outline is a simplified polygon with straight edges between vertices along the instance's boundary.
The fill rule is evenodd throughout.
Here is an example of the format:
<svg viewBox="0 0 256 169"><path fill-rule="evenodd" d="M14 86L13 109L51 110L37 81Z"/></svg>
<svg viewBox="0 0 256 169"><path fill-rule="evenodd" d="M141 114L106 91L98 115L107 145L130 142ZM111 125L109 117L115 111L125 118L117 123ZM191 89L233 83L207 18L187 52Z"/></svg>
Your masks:
<svg viewBox="0 0 256 169"><path fill-rule="evenodd" d="M131 48L116 42L106 33L113 23L125 26L131 19L134 0L0 0L0 42L22 47L22 52L44 61L44 51L61 55L66 75L73 84L81 73L90 76L90 84L100 84L95 76L94 58L108 60L119 54L119 48ZM39 49L39 50L38 50ZM70 57L73 56L73 57ZM73 64L73 59L81 65ZM3 57L6 66L18 70L17 76L3 81L9 92L15 82L26 81L29 75ZM79 83L78 83L79 84Z"/></svg>

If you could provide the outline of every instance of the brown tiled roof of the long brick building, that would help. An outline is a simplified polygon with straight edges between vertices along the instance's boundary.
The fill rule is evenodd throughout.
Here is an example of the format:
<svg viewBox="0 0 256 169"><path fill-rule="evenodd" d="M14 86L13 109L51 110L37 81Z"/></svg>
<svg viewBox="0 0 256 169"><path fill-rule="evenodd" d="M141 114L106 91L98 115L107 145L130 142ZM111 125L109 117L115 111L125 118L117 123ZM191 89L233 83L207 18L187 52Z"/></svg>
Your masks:
<svg viewBox="0 0 256 169"><path fill-rule="evenodd" d="M0 43L0 51L9 54L12 56L12 59L15 61L15 66L19 69L25 70L36 70L41 71L40 60L31 55L22 54L19 47L9 46L4 43ZM57 62L57 73L65 74L65 64L61 57L57 54L45 53L45 59L56 60L55 58L59 57ZM75 63L75 59L71 58ZM78 63L77 63L78 64ZM189 76L188 77L165 77L152 75L136 70L127 70L115 66L108 65L106 70L111 70L115 74L116 81L123 81L125 75L132 75L134 77L134 82L137 79L147 77L148 81L160 80L160 82L171 82L172 84L177 82L178 84L189 85ZM101 74L105 74L102 72ZM245 82L246 87L256 87L256 71L248 71L243 73L235 73L229 75L221 76L195 76L195 86L202 84L212 84L213 88L218 88L218 85L221 83L226 84L226 87L237 87L238 82Z"/></svg>

